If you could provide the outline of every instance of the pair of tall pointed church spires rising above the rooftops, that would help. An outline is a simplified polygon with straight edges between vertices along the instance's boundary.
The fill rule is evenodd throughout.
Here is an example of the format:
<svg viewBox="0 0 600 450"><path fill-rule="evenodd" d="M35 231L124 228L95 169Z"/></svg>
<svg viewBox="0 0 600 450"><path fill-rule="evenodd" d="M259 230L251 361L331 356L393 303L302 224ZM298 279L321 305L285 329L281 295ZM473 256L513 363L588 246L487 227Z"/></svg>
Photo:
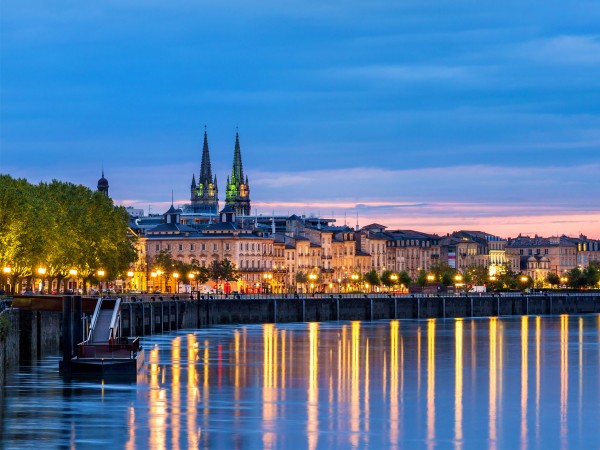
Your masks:
<svg viewBox="0 0 600 450"><path fill-rule="evenodd" d="M191 209L195 213L217 214L219 210L217 176L213 178L210 164L210 151L208 136L204 129L204 145L202 147L202 163L200 165L200 178L196 184L196 176L192 175L191 184ZM242 152L240 150L239 134L235 134L235 148L233 153L233 167L231 176L227 178L225 204L231 206L236 215L250 214L250 188L248 177L244 179L242 165Z"/></svg>

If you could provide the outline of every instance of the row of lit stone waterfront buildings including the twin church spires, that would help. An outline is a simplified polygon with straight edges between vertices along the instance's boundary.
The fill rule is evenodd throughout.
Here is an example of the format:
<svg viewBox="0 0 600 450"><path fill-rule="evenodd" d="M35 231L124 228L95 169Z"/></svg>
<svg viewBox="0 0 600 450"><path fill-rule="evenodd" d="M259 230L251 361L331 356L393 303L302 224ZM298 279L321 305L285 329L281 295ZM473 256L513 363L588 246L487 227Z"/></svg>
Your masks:
<svg viewBox="0 0 600 450"><path fill-rule="evenodd" d="M108 195L102 174L98 190ZM229 259L241 279L235 289L256 291L343 290L353 279L375 270L405 271L412 278L436 263L459 272L484 267L490 275L504 267L534 281L550 272L564 274L600 260L600 241L558 236L519 235L504 239L482 231L458 231L446 236L414 230L390 230L370 224L336 226L334 219L251 214L248 177L244 176L236 133L225 207L219 210L217 177L213 176L206 130L200 174L192 176L190 203L163 215L144 216L131 209L131 230L140 253L134 280L137 289L151 290L154 258L166 251L174 259L208 267ZM299 276L301 274L301 276ZM354 275L354 278L353 278ZM357 277L358 276L358 277Z"/></svg>

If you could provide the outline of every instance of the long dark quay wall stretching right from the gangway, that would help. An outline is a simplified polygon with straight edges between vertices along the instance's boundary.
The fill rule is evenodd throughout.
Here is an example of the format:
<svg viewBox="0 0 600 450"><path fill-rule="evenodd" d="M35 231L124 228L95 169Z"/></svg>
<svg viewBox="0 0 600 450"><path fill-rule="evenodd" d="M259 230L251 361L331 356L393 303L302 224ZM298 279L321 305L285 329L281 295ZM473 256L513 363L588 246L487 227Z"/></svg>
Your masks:
<svg viewBox="0 0 600 450"><path fill-rule="evenodd" d="M121 334L145 336L230 324L591 313L600 313L600 294L169 300L123 303Z"/></svg>

